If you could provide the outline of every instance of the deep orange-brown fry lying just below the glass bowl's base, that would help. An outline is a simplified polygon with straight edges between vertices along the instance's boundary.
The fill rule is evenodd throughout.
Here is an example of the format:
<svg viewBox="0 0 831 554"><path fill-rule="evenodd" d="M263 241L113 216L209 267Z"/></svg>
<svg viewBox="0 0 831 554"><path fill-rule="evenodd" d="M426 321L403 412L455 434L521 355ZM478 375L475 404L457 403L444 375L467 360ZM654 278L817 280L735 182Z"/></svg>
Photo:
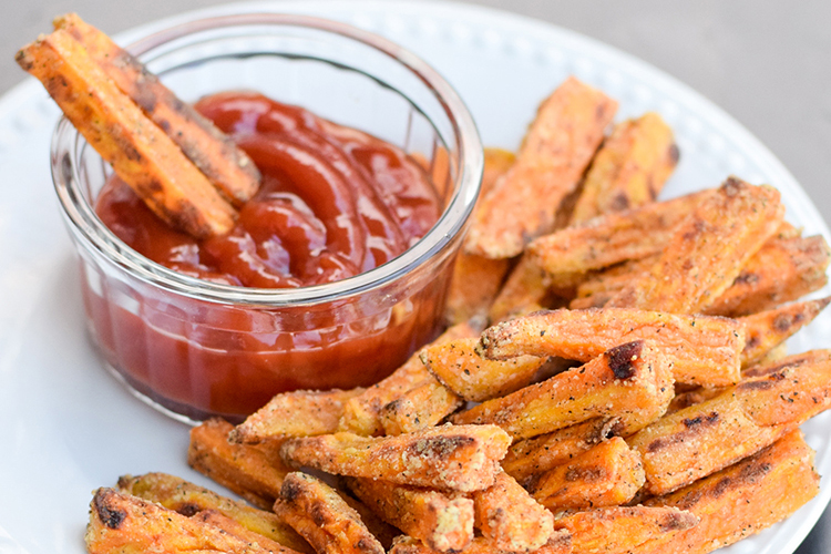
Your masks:
<svg viewBox="0 0 831 554"><path fill-rule="evenodd" d="M234 425L222 419L211 419L193 428L187 463L255 506L267 510L279 495L283 478L289 470L266 450L273 445L229 443L232 429Z"/></svg>

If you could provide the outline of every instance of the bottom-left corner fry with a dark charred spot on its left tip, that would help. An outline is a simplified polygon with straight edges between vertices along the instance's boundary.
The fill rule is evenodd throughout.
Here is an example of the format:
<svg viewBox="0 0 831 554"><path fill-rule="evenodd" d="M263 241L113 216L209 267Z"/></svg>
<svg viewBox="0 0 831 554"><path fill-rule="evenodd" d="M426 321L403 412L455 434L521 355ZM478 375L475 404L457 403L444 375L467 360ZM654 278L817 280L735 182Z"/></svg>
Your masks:
<svg viewBox="0 0 831 554"><path fill-rule="evenodd" d="M223 552L227 554L293 554L271 550L113 489L99 489L90 504L84 536L90 554Z"/></svg>

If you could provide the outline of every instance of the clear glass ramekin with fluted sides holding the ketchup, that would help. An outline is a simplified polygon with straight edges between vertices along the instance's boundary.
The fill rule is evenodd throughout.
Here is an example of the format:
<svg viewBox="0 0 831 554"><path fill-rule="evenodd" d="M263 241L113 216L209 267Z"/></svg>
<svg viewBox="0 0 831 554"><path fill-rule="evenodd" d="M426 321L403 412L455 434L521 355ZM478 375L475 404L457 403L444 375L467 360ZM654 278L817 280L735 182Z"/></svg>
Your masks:
<svg viewBox="0 0 831 554"><path fill-rule="evenodd" d="M278 392L371 384L441 330L483 156L434 70L350 25L276 13L194 20L127 49L185 101L254 90L392 143L425 164L444 204L423 238L358 276L295 289L209 283L144 258L101 223L93 203L112 170L61 120L52 176L86 321L133 393L183 421L239 421Z"/></svg>

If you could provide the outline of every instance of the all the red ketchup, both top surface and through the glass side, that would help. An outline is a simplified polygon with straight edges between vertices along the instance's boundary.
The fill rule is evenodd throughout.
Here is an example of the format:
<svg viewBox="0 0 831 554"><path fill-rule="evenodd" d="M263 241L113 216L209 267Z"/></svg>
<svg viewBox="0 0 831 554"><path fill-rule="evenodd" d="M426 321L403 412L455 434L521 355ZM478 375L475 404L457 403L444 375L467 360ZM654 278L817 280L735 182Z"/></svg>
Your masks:
<svg viewBox="0 0 831 554"><path fill-rule="evenodd" d="M170 228L111 178L98 215L163 266L243 287L332 283L391 260L441 215L424 170L373 136L256 93L216 94L196 109L250 156L263 183L230 233L199 242ZM150 295L121 309L89 289L85 301L102 350L136 390L192 419L235 420L278 392L386 377L438 332L447 275L392 309L349 308L353 317L319 306L253 314Z"/></svg>

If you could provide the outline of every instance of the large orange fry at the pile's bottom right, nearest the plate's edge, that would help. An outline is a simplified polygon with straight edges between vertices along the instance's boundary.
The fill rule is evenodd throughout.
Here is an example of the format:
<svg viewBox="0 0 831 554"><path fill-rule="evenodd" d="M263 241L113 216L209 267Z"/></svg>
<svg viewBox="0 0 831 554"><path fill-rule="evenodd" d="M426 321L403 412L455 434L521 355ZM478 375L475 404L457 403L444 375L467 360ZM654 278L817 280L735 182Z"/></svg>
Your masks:
<svg viewBox="0 0 831 554"><path fill-rule="evenodd" d="M689 511L700 523L644 544L638 554L705 554L784 520L819 492L813 451L792 431L758 454L667 496L649 506Z"/></svg>

